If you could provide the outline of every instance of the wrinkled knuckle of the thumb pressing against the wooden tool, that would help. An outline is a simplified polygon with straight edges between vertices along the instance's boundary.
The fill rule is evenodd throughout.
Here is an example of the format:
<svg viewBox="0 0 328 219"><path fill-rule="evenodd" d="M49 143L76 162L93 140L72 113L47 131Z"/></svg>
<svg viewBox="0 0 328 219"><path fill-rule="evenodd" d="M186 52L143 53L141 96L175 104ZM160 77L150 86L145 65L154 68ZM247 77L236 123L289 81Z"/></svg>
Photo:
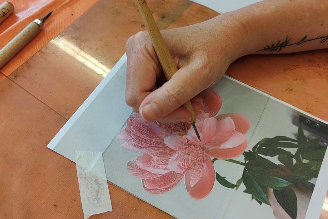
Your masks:
<svg viewBox="0 0 328 219"><path fill-rule="evenodd" d="M168 105L181 106L186 90L180 85L167 86L164 89L164 100Z"/></svg>

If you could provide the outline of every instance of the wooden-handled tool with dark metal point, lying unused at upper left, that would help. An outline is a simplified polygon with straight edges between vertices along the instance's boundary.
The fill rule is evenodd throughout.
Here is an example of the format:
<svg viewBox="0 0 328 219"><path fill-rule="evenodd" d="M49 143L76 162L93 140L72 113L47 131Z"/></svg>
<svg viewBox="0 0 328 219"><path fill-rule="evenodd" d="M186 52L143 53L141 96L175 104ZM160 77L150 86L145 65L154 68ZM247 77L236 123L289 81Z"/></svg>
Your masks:
<svg viewBox="0 0 328 219"><path fill-rule="evenodd" d="M35 19L0 50L0 69L40 33L41 27L51 13L52 11L42 19Z"/></svg>

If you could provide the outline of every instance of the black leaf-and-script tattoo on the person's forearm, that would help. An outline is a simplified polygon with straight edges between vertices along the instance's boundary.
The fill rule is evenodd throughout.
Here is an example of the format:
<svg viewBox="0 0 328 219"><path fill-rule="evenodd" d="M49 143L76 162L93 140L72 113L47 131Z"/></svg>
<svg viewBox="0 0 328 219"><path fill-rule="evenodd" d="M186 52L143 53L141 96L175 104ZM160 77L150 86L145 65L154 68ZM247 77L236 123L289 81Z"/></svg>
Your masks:
<svg viewBox="0 0 328 219"><path fill-rule="evenodd" d="M299 40L296 43L290 43L290 38L286 36L286 39L284 41L279 40L277 43L273 43L271 46L267 45L266 47L263 47L263 49L256 51L257 52L280 52L282 49L286 48L287 46L293 46L293 45L301 45L303 43L307 43L313 40L320 40L320 43L324 43L328 40L328 35L326 36L317 36L316 38L308 39L307 36L304 36L301 40Z"/></svg>

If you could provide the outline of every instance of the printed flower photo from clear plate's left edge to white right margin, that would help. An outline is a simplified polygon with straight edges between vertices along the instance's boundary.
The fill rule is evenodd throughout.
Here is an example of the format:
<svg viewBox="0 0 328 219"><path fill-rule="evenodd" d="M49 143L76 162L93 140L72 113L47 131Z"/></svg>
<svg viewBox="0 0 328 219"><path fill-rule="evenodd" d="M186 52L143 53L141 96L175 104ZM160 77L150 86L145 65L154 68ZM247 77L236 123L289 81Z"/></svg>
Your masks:
<svg viewBox="0 0 328 219"><path fill-rule="evenodd" d="M178 219L303 219L328 142L312 126L327 124L228 77L196 98L200 140L131 114L104 153L109 181Z"/></svg>

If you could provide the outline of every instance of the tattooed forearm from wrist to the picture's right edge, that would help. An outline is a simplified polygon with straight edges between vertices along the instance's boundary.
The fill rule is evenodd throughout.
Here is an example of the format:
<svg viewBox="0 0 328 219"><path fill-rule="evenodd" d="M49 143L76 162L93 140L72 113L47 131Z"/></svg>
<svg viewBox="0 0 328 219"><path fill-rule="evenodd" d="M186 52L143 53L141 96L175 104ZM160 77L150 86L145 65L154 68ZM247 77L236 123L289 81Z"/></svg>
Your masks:
<svg viewBox="0 0 328 219"><path fill-rule="evenodd" d="M327 0L263 0L222 16L242 27L240 56L328 48Z"/></svg>

